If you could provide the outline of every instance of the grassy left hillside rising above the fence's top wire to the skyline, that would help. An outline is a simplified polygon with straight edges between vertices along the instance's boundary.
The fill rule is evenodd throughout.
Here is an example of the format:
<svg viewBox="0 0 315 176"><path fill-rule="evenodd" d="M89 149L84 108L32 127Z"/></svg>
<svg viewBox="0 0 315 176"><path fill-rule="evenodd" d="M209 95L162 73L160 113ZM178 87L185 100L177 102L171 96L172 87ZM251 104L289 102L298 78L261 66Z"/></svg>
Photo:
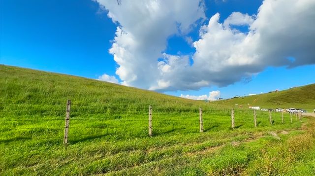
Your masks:
<svg viewBox="0 0 315 176"><path fill-rule="evenodd" d="M203 102L94 79L0 65L0 102L191 109Z"/></svg>

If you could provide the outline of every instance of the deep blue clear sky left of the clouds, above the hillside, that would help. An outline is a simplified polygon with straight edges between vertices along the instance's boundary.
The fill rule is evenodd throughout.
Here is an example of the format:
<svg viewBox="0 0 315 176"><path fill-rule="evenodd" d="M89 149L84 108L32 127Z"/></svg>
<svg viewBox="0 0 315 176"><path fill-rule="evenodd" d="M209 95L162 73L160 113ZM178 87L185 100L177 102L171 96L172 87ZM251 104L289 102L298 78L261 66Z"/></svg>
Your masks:
<svg viewBox="0 0 315 176"><path fill-rule="evenodd" d="M77 3L79 2L79 3ZM0 63L89 78L115 73L116 26L91 0L1 0Z"/></svg>

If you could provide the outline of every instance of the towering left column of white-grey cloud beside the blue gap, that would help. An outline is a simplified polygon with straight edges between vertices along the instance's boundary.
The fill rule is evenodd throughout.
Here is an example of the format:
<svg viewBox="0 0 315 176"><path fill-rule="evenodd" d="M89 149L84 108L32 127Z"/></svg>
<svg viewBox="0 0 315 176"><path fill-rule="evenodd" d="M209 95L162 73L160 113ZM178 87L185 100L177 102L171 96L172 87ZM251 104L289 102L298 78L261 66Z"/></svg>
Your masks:
<svg viewBox="0 0 315 176"><path fill-rule="evenodd" d="M119 67L116 74L124 85L144 89L167 89L158 58L171 35L187 34L195 22L204 19L202 0L96 0L117 23L109 52ZM167 70L167 68L164 68Z"/></svg>

